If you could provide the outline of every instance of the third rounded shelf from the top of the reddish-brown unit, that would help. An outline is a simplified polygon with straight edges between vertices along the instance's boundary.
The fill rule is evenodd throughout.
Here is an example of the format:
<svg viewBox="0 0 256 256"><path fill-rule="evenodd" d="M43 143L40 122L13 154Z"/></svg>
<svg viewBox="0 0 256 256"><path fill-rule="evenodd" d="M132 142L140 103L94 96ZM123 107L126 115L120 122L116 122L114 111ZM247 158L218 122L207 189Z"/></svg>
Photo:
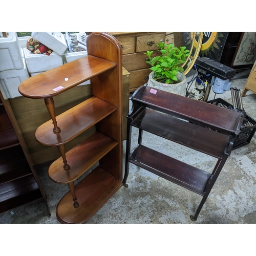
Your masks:
<svg viewBox="0 0 256 256"><path fill-rule="evenodd" d="M79 178L91 166L118 144L115 140L96 132L66 153L69 170L63 170L63 160L58 158L49 167L49 177L56 183L69 183Z"/></svg>

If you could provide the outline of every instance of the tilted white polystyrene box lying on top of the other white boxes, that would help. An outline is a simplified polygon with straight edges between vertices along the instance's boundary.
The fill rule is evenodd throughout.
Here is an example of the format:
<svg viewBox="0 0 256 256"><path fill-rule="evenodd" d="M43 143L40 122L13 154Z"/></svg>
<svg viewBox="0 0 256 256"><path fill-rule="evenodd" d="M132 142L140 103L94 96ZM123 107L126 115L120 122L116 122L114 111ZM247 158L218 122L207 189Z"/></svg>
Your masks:
<svg viewBox="0 0 256 256"><path fill-rule="evenodd" d="M31 36L58 55L65 53L68 48L66 38L61 32L32 32Z"/></svg>

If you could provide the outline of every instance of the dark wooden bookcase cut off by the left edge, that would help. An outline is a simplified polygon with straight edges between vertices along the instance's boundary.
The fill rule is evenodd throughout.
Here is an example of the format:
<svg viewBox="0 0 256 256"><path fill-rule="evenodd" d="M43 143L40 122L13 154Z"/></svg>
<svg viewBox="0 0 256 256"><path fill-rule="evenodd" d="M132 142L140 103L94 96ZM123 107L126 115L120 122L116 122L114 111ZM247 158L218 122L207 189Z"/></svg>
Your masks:
<svg viewBox="0 0 256 256"><path fill-rule="evenodd" d="M27 147L11 106L0 91L0 213L43 198Z"/></svg>

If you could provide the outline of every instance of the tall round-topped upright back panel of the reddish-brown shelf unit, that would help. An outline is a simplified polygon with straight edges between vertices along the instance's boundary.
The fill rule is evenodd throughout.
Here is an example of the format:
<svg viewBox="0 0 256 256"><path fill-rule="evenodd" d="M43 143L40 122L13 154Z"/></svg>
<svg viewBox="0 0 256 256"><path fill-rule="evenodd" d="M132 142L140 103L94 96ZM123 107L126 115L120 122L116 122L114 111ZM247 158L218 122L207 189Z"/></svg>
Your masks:
<svg viewBox="0 0 256 256"><path fill-rule="evenodd" d="M99 50L100 49L100 50ZM92 33L87 38L88 54L113 61L116 67L91 79L92 94L115 106L117 111L96 124L96 130L118 142L108 159L100 160L100 167L117 179L122 179L122 48L115 37L106 33ZM110 163L112 164L110 166Z"/></svg>

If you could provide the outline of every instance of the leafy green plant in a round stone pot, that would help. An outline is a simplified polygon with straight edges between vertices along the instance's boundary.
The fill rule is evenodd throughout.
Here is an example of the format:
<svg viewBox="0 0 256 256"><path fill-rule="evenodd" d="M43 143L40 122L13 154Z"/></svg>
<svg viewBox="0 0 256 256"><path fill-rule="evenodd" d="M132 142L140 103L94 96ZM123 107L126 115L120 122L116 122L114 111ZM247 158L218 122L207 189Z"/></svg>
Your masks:
<svg viewBox="0 0 256 256"><path fill-rule="evenodd" d="M160 49L159 56L151 57L153 51L145 53L146 63L152 66L148 86L185 96L186 76L181 64L189 56L189 50L185 46L178 48L174 44L166 45L165 42L159 42L157 46Z"/></svg>

